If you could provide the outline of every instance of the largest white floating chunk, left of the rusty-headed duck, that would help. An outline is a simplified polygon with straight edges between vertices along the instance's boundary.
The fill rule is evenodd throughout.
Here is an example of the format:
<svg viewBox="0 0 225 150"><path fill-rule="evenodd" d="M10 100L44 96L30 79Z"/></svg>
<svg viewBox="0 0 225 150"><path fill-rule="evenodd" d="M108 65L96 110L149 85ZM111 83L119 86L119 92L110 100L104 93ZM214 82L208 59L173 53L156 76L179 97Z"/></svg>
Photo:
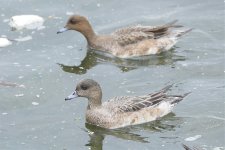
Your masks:
<svg viewBox="0 0 225 150"><path fill-rule="evenodd" d="M42 28L44 19L37 15L18 15L10 18L9 25L13 30Z"/></svg>

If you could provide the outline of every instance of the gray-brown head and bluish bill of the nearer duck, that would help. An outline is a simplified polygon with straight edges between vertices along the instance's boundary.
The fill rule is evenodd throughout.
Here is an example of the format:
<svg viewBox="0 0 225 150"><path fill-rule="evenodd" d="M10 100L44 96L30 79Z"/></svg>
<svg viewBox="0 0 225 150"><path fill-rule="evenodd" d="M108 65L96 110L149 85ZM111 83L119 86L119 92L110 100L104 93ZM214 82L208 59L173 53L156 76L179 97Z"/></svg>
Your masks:
<svg viewBox="0 0 225 150"><path fill-rule="evenodd" d="M86 97L89 100L101 101L102 91L101 91L100 85L92 79L81 80L77 84L75 91L69 96L67 96L65 100L71 100L76 97Z"/></svg>

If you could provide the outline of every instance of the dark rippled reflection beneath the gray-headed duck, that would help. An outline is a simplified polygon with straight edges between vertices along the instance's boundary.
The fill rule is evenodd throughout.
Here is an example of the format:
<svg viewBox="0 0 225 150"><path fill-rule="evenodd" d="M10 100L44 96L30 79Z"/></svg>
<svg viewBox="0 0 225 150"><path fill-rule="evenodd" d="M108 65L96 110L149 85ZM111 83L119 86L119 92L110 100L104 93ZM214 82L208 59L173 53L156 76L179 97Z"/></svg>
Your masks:
<svg viewBox="0 0 225 150"><path fill-rule="evenodd" d="M179 121L180 118L174 117L174 113L170 113L167 116L161 118L160 120L156 120L150 123L145 123L142 125L136 125L136 126L130 126L125 128L119 128L119 129L104 129L101 127L97 127L91 124L86 123L85 131L89 134L90 140L86 146L89 146L91 150L102 150L103 149L103 141L105 136L114 136L119 139L123 140L131 140L135 142L141 142L141 143L149 143L148 137L143 137L137 133L132 133L134 131L150 131L150 132L163 132L163 131L171 131L175 130L176 125L171 125L170 121L173 123L177 123L176 121ZM166 123L165 123L166 122ZM161 137L161 138L171 138L171 137ZM176 138L176 137L173 137Z"/></svg>

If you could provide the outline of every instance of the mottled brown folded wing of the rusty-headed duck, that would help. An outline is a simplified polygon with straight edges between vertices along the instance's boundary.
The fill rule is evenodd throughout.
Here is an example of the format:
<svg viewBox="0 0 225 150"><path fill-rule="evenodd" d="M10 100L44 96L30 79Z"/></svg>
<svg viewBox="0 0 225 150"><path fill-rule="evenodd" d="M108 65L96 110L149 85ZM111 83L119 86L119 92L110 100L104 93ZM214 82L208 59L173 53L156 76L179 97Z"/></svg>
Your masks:
<svg viewBox="0 0 225 150"><path fill-rule="evenodd" d="M126 46L145 39L157 39L166 36L168 35L169 28L182 27L180 25L175 25L176 22L177 20L161 26L131 26L118 29L113 32L112 35L121 46Z"/></svg>

